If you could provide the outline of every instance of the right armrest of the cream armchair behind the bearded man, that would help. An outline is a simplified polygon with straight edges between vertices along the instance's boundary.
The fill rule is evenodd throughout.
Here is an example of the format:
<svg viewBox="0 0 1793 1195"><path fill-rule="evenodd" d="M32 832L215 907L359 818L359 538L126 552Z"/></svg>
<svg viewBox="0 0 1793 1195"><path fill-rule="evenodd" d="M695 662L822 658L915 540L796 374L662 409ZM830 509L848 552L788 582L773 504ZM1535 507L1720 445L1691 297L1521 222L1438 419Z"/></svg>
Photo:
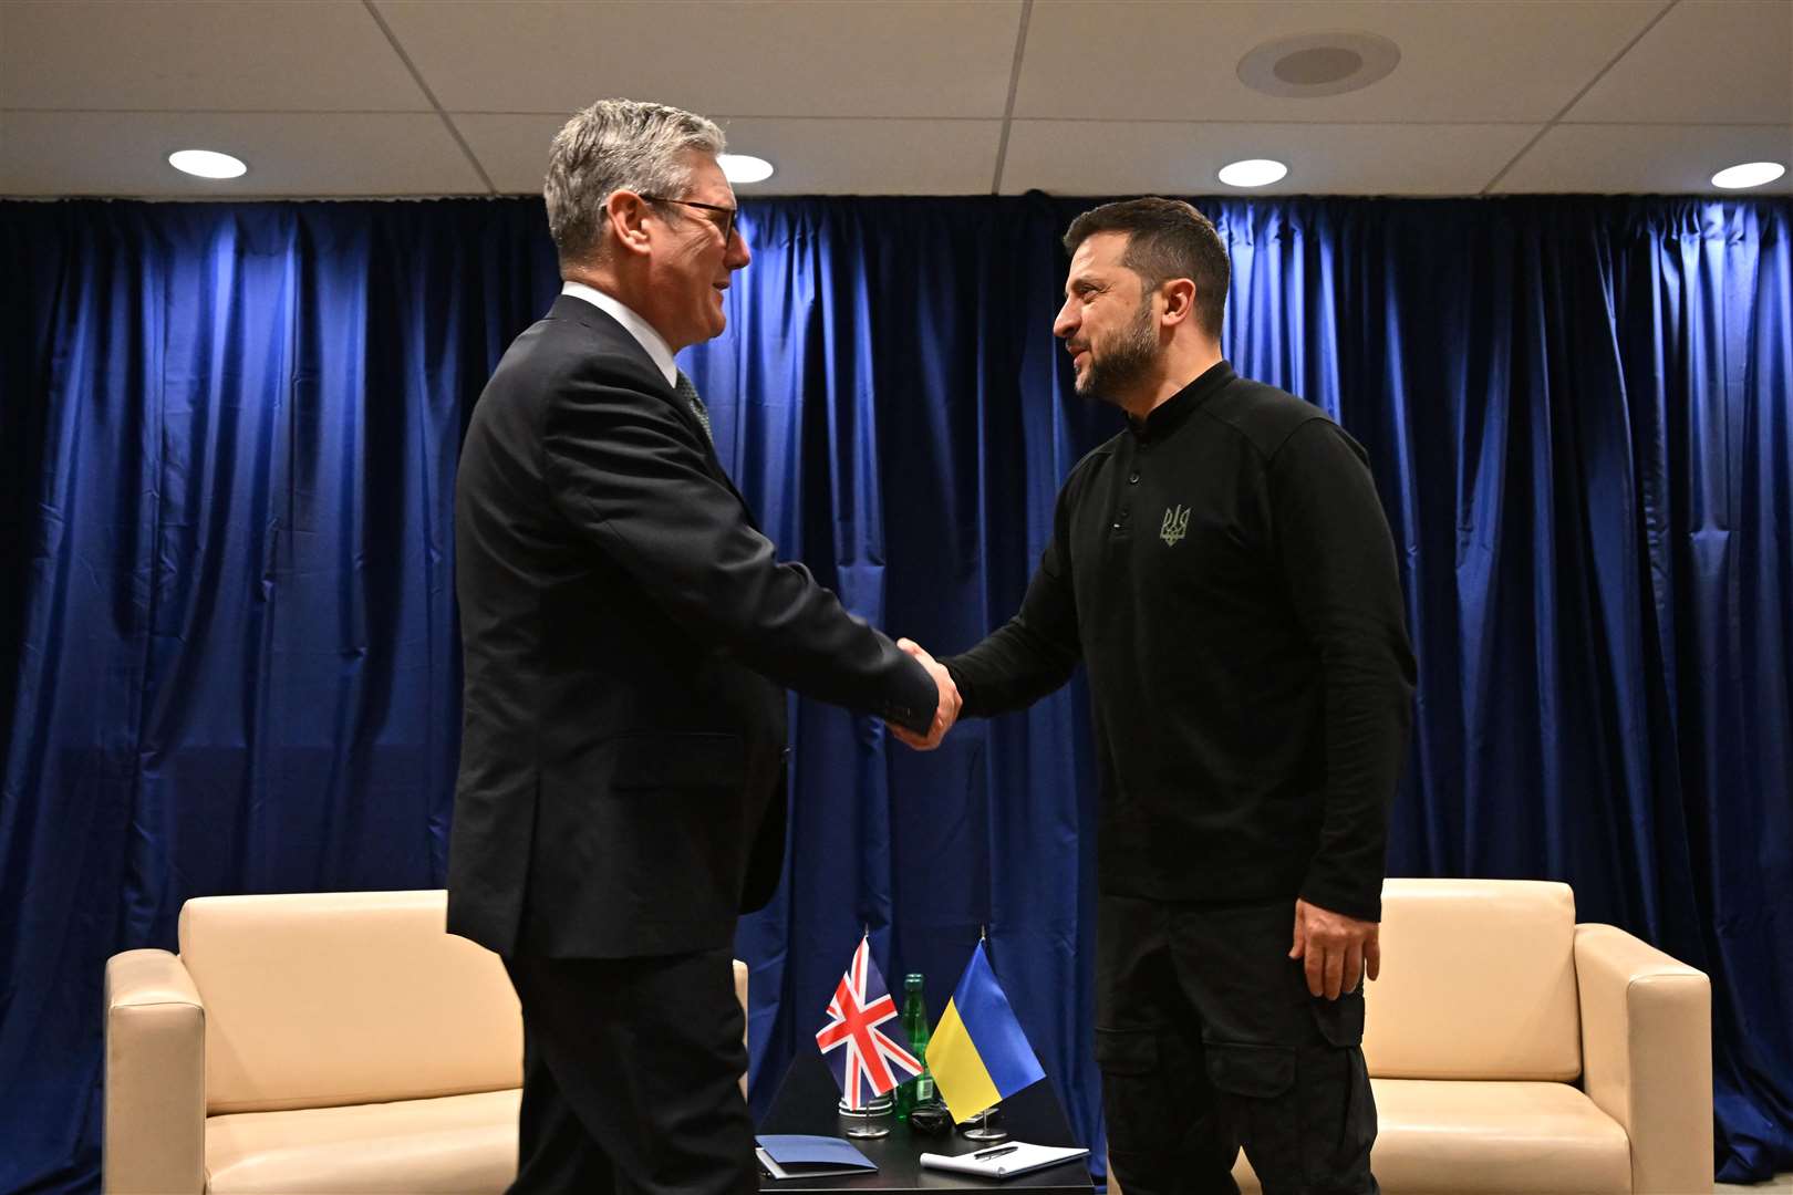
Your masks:
<svg viewBox="0 0 1793 1195"><path fill-rule="evenodd" d="M1712 1190L1712 985L1610 924L1578 924L1581 1084L1632 1139L1635 1195Z"/></svg>

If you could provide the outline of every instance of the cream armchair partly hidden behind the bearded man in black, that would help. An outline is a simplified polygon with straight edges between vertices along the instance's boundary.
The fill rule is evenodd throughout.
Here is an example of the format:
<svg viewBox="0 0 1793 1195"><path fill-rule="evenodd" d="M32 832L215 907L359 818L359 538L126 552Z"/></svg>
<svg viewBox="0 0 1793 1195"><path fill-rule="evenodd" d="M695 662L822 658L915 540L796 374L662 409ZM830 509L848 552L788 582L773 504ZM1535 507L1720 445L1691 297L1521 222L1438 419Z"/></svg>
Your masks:
<svg viewBox="0 0 1793 1195"><path fill-rule="evenodd" d="M1707 976L1563 883L1390 880L1366 1021L1388 1195L1712 1190Z"/></svg>

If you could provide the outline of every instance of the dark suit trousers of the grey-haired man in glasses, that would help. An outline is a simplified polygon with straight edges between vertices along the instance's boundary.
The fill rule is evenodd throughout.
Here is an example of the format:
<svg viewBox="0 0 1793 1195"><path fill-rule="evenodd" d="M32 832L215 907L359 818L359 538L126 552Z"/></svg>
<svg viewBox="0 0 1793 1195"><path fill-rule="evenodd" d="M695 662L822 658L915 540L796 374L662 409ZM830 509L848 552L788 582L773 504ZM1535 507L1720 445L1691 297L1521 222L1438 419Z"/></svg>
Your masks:
<svg viewBox="0 0 1793 1195"><path fill-rule="evenodd" d="M513 1191L758 1190L728 950L504 966L524 1005Z"/></svg>

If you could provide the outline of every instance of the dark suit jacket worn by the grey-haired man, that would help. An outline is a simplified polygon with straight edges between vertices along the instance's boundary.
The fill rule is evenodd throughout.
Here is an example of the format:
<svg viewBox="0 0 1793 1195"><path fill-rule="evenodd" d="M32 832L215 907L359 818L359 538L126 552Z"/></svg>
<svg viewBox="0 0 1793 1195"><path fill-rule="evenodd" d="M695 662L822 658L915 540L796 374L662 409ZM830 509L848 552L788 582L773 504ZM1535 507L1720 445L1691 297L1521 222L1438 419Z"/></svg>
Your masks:
<svg viewBox="0 0 1793 1195"><path fill-rule="evenodd" d="M780 564L696 416L561 296L473 408L448 930L498 953L714 950L784 864L785 693L925 731L927 672Z"/></svg>

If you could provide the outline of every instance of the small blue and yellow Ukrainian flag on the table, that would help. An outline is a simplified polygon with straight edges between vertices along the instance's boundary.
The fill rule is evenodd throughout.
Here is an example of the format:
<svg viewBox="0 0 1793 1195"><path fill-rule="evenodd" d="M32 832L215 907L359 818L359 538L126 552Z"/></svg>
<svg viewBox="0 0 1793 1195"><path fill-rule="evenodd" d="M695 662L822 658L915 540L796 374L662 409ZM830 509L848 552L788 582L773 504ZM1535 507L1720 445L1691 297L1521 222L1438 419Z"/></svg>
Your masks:
<svg viewBox="0 0 1793 1195"><path fill-rule="evenodd" d="M927 1041L927 1070L957 1122L1045 1079L981 941Z"/></svg>

